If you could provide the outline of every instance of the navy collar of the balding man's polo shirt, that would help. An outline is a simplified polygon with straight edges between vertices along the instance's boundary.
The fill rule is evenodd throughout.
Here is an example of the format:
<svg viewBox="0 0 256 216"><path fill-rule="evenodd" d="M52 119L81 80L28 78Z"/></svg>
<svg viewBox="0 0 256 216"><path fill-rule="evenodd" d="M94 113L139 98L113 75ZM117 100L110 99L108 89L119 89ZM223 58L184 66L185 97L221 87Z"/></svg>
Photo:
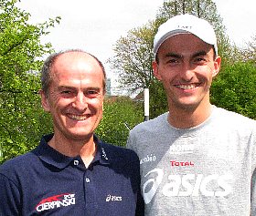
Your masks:
<svg viewBox="0 0 256 216"><path fill-rule="evenodd" d="M32 150L32 152L34 152L39 159L59 169L64 169L65 167L68 167L70 162L72 162L73 160L80 159L80 156L69 157L59 153L59 151L57 151L56 149L51 148L48 145L48 141L52 139L52 137L53 134L43 136L39 146L37 146L36 149ZM101 142L101 140L96 135L93 135L93 139L97 146L97 152L91 164L93 164L95 161L99 161L100 164L110 164L111 159L106 153L107 151L105 148L105 144Z"/></svg>

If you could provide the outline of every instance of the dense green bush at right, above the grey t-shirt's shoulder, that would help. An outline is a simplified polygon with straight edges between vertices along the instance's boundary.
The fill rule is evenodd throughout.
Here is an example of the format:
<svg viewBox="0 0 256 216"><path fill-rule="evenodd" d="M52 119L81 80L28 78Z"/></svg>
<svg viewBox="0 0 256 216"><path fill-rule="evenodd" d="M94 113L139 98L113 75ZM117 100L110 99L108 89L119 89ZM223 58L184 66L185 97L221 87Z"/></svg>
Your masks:
<svg viewBox="0 0 256 216"><path fill-rule="evenodd" d="M256 67L235 63L223 69L211 87L211 102L218 107L256 119Z"/></svg>

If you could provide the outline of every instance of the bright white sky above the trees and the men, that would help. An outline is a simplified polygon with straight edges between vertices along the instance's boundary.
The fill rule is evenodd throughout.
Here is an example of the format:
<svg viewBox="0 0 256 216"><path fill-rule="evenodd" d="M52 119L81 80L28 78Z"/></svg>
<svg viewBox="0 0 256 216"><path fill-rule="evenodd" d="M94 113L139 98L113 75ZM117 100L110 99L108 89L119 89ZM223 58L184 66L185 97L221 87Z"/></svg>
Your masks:
<svg viewBox="0 0 256 216"><path fill-rule="evenodd" d="M81 48L98 57L112 77L106 63L114 55L113 45L133 28L154 20L164 0L21 0L17 4L28 12L30 22L43 23L61 16L60 24L50 28L42 42L56 51ZM256 35L255 0L213 0L229 38L245 46Z"/></svg>

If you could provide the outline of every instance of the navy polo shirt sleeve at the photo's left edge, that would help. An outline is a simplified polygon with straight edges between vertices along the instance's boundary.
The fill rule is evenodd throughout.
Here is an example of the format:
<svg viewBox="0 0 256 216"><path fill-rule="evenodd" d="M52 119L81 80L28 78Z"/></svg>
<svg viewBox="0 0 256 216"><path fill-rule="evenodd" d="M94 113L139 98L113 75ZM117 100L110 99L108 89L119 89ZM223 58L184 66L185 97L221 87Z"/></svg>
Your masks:
<svg viewBox="0 0 256 216"><path fill-rule="evenodd" d="M16 184L0 173L0 215L16 216L20 209L20 192Z"/></svg>

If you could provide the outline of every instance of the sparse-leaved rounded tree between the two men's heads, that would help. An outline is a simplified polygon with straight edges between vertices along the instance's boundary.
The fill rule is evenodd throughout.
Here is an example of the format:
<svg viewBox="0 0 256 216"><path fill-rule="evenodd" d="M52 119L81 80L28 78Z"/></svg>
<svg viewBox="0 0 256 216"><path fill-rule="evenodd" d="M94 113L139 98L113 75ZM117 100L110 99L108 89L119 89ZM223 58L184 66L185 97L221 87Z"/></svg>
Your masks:
<svg viewBox="0 0 256 216"><path fill-rule="evenodd" d="M138 88L149 87L152 82L152 36L155 31L155 22L132 29L113 48L116 56L110 59L112 69L120 75L122 85L132 92Z"/></svg>

